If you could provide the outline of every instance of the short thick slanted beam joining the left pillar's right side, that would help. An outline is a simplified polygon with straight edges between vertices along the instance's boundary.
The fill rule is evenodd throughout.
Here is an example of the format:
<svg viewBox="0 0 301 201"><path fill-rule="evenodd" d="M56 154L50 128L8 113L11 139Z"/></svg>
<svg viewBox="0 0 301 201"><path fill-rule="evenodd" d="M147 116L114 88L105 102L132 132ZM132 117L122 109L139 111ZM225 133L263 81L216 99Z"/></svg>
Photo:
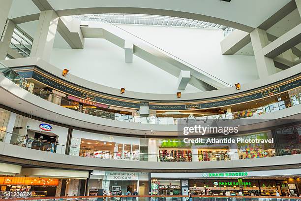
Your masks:
<svg viewBox="0 0 301 201"><path fill-rule="evenodd" d="M80 28L80 20L71 16L59 18L58 32L72 49L84 49L85 39Z"/></svg>

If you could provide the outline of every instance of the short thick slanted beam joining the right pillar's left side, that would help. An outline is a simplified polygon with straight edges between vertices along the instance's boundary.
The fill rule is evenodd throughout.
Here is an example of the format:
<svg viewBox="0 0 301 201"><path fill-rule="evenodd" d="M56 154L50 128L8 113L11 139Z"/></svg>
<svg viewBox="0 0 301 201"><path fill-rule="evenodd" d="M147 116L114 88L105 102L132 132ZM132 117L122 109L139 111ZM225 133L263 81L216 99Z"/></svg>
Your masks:
<svg viewBox="0 0 301 201"><path fill-rule="evenodd" d="M223 55L233 55L251 42L250 33L235 30L220 42Z"/></svg>

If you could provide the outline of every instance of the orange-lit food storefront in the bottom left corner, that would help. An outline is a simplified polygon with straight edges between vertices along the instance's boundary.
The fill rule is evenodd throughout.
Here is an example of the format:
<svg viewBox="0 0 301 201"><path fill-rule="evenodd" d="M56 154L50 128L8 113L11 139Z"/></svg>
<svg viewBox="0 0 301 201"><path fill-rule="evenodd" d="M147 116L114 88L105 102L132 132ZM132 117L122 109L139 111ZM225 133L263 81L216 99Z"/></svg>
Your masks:
<svg viewBox="0 0 301 201"><path fill-rule="evenodd" d="M55 178L0 177L2 192L26 192L26 197L56 196L58 185L59 179Z"/></svg>

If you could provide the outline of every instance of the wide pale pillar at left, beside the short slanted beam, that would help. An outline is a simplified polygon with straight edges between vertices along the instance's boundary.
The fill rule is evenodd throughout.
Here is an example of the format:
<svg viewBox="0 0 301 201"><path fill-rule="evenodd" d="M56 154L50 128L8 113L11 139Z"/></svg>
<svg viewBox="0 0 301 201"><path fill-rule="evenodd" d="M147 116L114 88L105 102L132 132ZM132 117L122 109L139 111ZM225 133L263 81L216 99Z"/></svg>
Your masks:
<svg viewBox="0 0 301 201"><path fill-rule="evenodd" d="M54 10L41 11L30 57L39 57L46 62L50 61L58 21L59 17Z"/></svg>

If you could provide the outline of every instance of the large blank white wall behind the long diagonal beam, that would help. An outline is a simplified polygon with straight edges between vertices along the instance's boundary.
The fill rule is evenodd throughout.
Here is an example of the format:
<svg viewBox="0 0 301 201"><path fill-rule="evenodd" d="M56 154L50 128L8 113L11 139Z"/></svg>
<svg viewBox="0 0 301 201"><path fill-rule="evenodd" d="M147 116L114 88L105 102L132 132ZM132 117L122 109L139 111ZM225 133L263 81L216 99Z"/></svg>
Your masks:
<svg viewBox="0 0 301 201"><path fill-rule="evenodd" d="M254 56L221 54L220 41L224 38L221 30L119 26L230 84L258 79ZM54 48L51 64L115 88L166 94L178 91L178 78L136 56L132 64L125 63L124 50L105 39L86 38L84 50ZM197 91L188 85L185 93Z"/></svg>

